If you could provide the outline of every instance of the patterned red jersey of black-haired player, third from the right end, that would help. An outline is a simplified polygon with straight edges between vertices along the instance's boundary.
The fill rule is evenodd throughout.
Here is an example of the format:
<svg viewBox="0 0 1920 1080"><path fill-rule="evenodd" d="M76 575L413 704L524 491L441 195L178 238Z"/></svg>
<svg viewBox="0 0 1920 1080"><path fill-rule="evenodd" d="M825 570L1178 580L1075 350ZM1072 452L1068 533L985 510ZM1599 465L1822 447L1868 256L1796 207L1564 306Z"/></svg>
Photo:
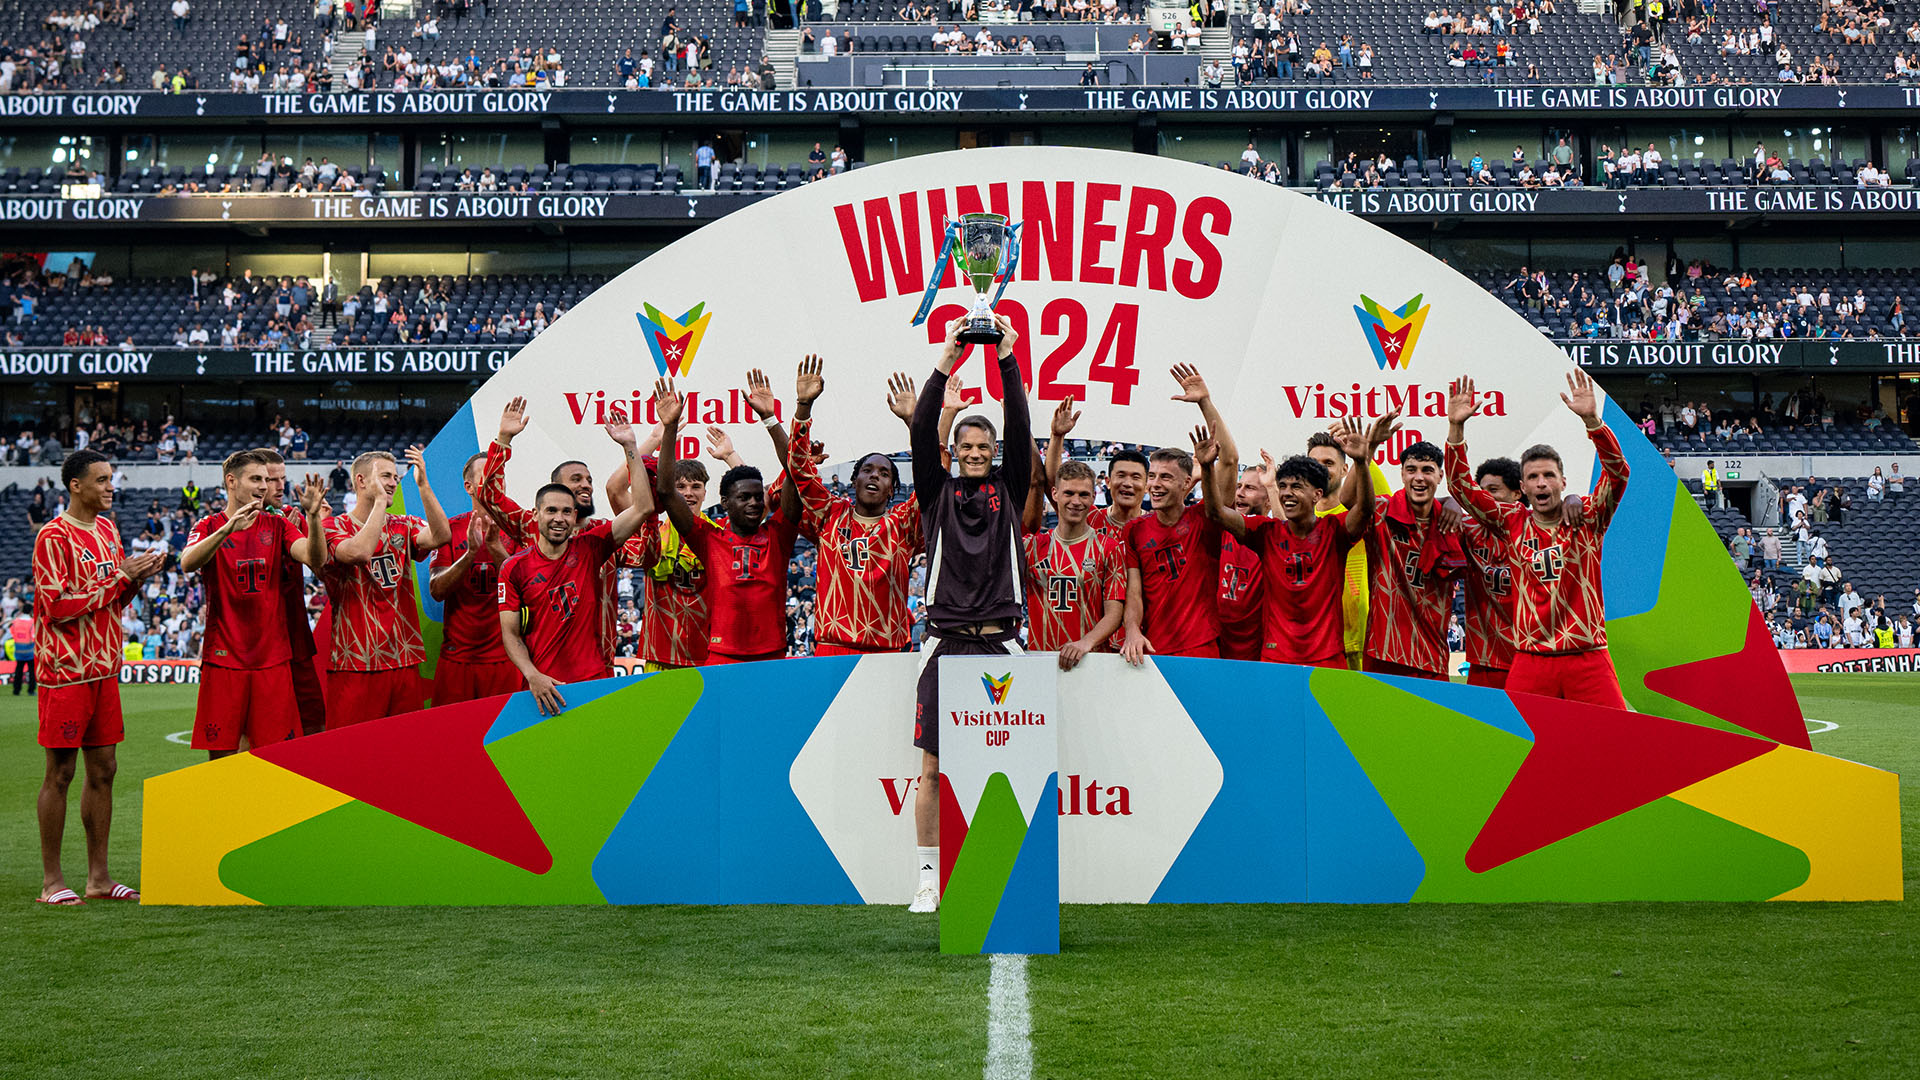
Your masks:
<svg viewBox="0 0 1920 1080"><path fill-rule="evenodd" d="M1459 536L1415 519L1405 492L1375 500L1367 530L1367 655L1446 673L1446 619L1465 567Z"/></svg>

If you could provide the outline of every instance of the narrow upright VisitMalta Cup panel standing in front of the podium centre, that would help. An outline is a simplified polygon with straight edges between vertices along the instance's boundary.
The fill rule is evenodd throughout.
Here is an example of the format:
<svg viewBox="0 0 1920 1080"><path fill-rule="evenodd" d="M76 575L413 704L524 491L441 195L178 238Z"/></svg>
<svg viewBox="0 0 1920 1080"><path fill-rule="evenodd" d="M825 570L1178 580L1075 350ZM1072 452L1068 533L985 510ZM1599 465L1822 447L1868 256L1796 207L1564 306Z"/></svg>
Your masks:
<svg viewBox="0 0 1920 1080"><path fill-rule="evenodd" d="M920 723L941 728L941 951L1058 953L1060 663L939 665L939 715Z"/></svg>

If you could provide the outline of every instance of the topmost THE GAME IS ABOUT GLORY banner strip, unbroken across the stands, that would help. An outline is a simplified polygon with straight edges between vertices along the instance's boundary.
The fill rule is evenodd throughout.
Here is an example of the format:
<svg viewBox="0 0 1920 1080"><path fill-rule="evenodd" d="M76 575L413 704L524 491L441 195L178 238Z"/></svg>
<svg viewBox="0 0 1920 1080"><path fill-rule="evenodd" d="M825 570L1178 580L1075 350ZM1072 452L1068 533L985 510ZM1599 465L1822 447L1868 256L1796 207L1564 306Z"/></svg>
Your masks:
<svg viewBox="0 0 1920 1080"><path fill-rule="evenodd" d="M8 123L127 125L148 119L324 119L380 123L543 115L745 115L755 119L860 113L924 117L964 113L1726 113L1901 111L1920 108L1920 86L1196 86L1125 88L803 88L803 90L355 90L338 94L65 92L0 96Z"/></svg>

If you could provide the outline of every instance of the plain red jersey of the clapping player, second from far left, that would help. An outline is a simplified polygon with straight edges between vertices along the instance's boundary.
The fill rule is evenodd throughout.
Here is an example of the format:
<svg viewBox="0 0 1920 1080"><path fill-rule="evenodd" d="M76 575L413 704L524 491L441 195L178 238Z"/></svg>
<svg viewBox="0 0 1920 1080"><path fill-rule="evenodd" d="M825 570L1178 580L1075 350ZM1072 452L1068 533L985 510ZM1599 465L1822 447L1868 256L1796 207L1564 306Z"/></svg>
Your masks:
<svg viewBox="0 0 1920 1080"><path fill-rule="evenodd" d="M227 525L227 513L209 513L194 523L186 544L198 544ZM301 528L305 525L301 523ZM294 532L276 513L261 513L246 532L234 532L200 567L200 584L207 592L207 634L200 646L200 663L261 671L288 663L294 650L286 630L288 567ZM305 626L305 615L300 625Z"/></svg>

